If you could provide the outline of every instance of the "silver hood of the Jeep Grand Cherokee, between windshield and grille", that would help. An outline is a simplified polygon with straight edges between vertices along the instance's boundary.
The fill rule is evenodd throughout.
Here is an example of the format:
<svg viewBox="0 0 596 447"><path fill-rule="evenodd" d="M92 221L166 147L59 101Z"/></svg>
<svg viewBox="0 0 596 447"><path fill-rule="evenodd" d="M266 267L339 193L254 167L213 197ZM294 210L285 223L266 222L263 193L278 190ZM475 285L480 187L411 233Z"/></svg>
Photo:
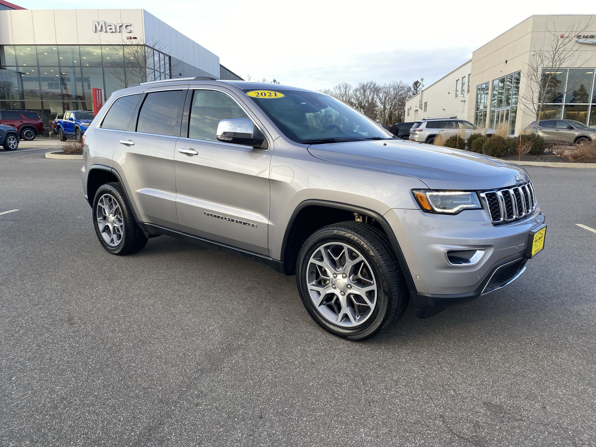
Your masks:
<svg viewBox="0 0 596 447"><path fill-rule="evenodd" d="M430 144L397 139L313 144L308 151L318 159L381 169L417 177L436 190L491 190L528 181L517 164ZM518 179L516 179L518 176Z"/></svg>

